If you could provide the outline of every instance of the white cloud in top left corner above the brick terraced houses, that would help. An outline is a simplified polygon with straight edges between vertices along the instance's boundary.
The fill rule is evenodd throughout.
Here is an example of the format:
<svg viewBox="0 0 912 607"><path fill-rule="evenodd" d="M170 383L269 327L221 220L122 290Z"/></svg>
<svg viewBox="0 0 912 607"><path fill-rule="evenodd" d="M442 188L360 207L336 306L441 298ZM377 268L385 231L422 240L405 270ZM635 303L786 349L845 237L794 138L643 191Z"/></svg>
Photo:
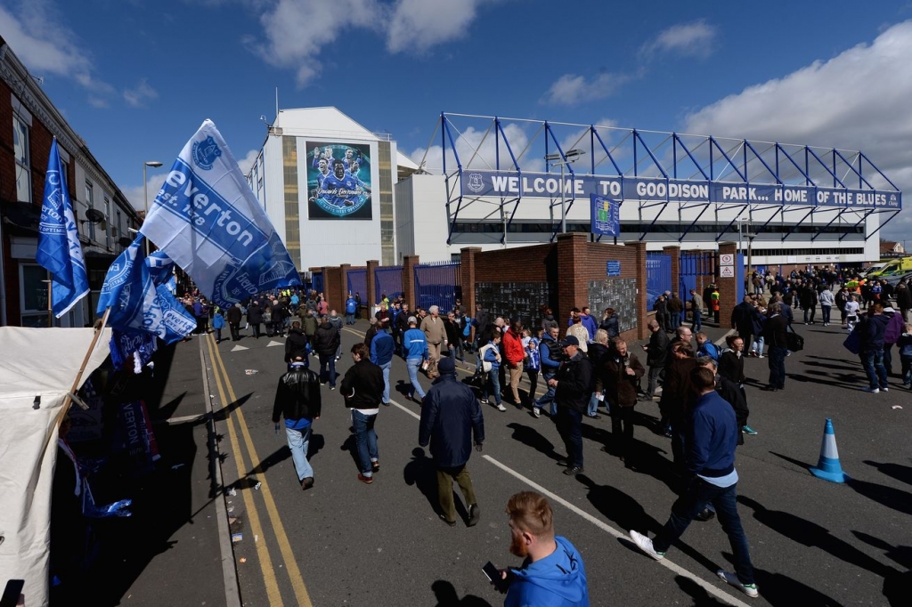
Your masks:
<svg viewBox="0 0 912 607"><path fill-rule="evenodd" d="M16 9L0 6L0 24L10 48L35 76L72 78L96 98L113 93L94 76L91 57L49 0L28 0Z"/></svg>

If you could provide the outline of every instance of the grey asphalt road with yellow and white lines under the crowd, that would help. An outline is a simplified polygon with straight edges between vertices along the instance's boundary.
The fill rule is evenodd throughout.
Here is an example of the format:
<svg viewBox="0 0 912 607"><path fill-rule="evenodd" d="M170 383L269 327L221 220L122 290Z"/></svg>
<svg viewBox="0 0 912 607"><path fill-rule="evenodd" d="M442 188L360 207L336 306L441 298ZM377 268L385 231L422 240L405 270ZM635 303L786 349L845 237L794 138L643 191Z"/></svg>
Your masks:
<svg viewBox="0 0 912 607"><path fill-rule="evenodd" d="M366 328L360 321L343 332L341 373ZM576 478L556 465L563 443L549 418L509 405L505 413L482 407L487 439L469 464L482 522L451 529L438 519L433 464L417 445L420 406L395 390L408 382L401 360L390 375L394 404L380 410L376 425L375 482L358 482L350 416L338 392L324 387L310 448L316 485L303 492L285 434L275 436L270 419L285 370L283 340L215 345L209 335L181 344L202 348L208 367L224 482L235 489L226 497L228 516L242 534L233 549L243 602L501 604L481 568L486 561L519 564L508 552L503 509L513 493L534 489L552 500L557 533L582 553L593 605L909 604L900 598L912 582L912 397L898 382L887 394L861 392L861 367L841 347L838 326L796 329L806 345L786 359L784 391L762 392L767 360L747 361L747 375L760 380L748 387L750 424L759 434L745 437L736 465L759 599L717 580L717 569L731 570L731 550L715 520L692 524L660 563L624 539L629 529L654 534L675 499L669 441L649 429L658 419L655 404L637 406L643 426L636 471L600 450L611 441L605 416L585 422L586 472ZM898 364L896 356L896 370ZM429 380L421 381L427 389ZM820 455L828 417L852 478L846 484L807 471Z"/></svg>

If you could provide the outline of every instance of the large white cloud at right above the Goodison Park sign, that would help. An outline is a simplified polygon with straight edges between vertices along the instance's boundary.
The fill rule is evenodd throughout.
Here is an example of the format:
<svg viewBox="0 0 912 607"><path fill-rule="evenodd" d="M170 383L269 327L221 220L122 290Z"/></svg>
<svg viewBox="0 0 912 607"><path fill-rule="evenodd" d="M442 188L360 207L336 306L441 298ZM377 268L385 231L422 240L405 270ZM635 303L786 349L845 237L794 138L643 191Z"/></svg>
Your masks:
<svg viewBox="0 0 912 607"><path fill-rule="evenodd" d="M906 192L907 206L912 206L908 57L912 21L886 29L870 45L860 44L720 99L690 114L684 129L717 137L860 149ZM912 234L912 211L903 211L876 237L901 241L904 234Z"/></svg>

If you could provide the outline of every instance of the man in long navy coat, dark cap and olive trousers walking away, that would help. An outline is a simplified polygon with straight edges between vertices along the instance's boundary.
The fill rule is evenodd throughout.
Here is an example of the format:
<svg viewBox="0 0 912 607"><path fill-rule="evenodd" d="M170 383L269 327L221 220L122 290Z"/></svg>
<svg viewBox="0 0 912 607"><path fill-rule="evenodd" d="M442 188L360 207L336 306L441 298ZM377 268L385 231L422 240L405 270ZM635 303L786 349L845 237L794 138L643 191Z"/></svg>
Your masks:
<svg viewBox="0 0 912 607"><path fill-rule="evenodd" d="M459 484L466 508L469 510L467 526L474 527L481 518L472 477L466 464L472 455L472 436L475 448L482 450L484 418L482 407L472 388L456 380L456 364L449 356L437 365L440 377L434 380L421 405L421 422L418 444L427 447L437 465L437 497L440 519L451 527L456 525L453 505L453 481Z"/></svg>

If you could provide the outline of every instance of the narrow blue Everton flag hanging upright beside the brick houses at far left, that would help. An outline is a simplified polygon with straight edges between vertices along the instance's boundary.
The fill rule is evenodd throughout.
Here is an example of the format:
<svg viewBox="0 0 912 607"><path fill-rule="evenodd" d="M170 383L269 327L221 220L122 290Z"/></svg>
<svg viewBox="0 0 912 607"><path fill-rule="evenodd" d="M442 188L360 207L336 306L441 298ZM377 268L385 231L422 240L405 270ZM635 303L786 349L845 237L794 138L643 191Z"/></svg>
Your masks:
<svg viewBox="0 0 912 607"><path fill-rule="evenodd" d="M45 198L41 203L35 259L38 265L54 275L51 309L60 318L88 294L88 274L57 138L51 144L51 156L47 159Z"/></svg>

